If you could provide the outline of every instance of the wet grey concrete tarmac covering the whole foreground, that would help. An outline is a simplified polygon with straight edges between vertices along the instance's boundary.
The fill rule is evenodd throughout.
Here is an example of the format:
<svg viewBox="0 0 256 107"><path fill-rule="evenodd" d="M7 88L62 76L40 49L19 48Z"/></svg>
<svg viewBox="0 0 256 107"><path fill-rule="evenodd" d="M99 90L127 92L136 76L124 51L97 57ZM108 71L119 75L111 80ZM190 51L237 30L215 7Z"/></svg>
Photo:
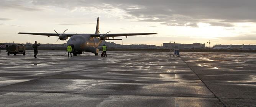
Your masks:
<svg viewBox="0 0 256 107"><path fill-rule="evenodd" d="M256 53L0 54L0 107L256 106Z"/></svg>

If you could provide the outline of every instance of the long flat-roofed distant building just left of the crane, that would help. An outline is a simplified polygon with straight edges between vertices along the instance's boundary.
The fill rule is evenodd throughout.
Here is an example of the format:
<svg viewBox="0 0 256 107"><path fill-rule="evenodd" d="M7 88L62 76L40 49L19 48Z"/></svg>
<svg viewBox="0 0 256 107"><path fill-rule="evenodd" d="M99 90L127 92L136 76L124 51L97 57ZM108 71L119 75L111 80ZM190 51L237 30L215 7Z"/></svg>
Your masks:
<svg viewBox="0 0 256 107"><path fill-rule="evenodd" d="M162 43L164 49L205 49L205 44L174 44L174 43Z"/></svg>

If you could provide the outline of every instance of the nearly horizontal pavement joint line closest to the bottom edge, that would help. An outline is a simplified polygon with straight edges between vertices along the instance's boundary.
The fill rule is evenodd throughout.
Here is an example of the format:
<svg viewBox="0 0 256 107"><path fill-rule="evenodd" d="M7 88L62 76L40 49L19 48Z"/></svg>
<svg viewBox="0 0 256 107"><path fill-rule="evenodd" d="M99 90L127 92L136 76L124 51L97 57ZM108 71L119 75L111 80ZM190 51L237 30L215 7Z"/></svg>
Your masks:
<svg viewBox="0 0 256 107"><path fill-rule="evenodd" d="M80 95L109 95L109 96L149 96L149 95L126 95L126 94L90 94L90 93L70 93L70 92L42 92L42 91L5 91L0 92L31 92L31 93L53 93L53 94L80 94ZM150 96L149 96L150 97ZM216 98L216 97L199 97L199 96L152 96L152 97L196 97L196 98Z"/></svg>

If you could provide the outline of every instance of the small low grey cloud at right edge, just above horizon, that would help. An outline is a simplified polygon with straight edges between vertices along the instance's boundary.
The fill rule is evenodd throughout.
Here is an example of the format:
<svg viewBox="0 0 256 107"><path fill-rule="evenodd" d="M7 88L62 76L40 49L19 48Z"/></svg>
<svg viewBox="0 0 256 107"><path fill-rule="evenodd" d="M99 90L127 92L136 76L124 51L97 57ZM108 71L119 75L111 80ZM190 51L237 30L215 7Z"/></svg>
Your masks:
<svg viewBox="0 0 256 107"><path fill-rule="evenodd" d="M256 41L256 34L245 34L235 37L218 37L219 39L223 40L250 40L250 41Z"/></svg>

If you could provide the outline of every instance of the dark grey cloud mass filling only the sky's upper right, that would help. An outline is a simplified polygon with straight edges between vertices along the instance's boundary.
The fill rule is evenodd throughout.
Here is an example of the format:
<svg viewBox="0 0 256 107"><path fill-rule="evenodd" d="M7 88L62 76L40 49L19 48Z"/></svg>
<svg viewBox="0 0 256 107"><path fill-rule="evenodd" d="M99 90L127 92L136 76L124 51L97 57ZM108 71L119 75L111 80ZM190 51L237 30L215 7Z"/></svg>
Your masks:
<svg viewBox="0 0 256 107"><path fill-rule="evenodd" d="M232 23L256 22L256 0L142 0L121 1L125 10L139 21L159 22L168 26L192 26L209 23L232 27ZM128 9L136 5L136 9ZM155 19L153 19L155 18ZM187 24L190 23L190 24Z"/></svg>

